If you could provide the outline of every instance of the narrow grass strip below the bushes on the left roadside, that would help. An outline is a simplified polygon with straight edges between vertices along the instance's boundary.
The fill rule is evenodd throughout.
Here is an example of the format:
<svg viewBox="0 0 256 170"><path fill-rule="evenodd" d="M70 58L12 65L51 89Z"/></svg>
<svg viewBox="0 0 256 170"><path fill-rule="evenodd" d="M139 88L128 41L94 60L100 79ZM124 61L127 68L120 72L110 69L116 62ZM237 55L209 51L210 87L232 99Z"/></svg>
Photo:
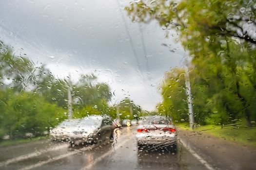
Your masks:
<svg viewBox="0 0 256 170"><path fill-rule="evenodd" d="M31 138L2 140L2 141L0 141L0 147L17 145L17 144L21 144L21 143L28 143L31 141L43 140L43 139L48 139L48 138L49 138L49 136L37 136L37 137L31 137Z"/></svg>

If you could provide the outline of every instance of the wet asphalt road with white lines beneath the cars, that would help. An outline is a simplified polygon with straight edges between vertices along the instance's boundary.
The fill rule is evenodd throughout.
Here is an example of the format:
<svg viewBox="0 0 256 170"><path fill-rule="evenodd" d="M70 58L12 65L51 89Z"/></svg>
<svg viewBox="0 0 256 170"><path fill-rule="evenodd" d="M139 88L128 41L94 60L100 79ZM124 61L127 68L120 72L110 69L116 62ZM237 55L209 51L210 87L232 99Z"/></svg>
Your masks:
<svg viewBox="0 0 256 170"><path fill-rule="evenodd" d="M115 131L114 140L70 147L50 140L0 148L0 170L214 170L215 163L178 140L176 154L138 151L135 128ZM210 163L209 163L210 162ZM233 167L234 168L234 167ZM229 169L229 167L223 168Z"/></svg>

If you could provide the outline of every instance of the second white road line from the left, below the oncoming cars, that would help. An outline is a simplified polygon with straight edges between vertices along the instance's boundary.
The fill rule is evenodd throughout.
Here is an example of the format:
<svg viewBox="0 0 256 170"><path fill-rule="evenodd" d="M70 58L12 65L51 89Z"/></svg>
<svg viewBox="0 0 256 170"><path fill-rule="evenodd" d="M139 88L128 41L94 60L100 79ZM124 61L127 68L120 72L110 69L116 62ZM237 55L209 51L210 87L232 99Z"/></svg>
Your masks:
<svg viewBox="0 0 256 170"><path fill-rule="evenodd" d="M41 161L41 162L39 162L39 163L37 163L37 164L27 166L27 167L22 168L22 169L20 169L20 170L31 170L31 169L33 169L33 168L37 168L37 167L40 167L40 166L42 166L42 165L48 164L48 163L50 163L50 162L57 161L57 160L59 160L59 159L65 158L65 157L67 157L67 156L71 156L71 155L73 155L73 154L80 153L80 152L82 152L82 151L90 150L90 149L92 149L92 148L94 148L94 147L96 147L96 146L86 147L86 148L82 148L82 149L80 149L80 150L72 151L72 152L69 152L69 153L66 153L66 154L61 154L61 155L59 155L59 156L53 157L53 158L51 158L51 159L48 159L48 160L46 160L46 161Z"/></svg>

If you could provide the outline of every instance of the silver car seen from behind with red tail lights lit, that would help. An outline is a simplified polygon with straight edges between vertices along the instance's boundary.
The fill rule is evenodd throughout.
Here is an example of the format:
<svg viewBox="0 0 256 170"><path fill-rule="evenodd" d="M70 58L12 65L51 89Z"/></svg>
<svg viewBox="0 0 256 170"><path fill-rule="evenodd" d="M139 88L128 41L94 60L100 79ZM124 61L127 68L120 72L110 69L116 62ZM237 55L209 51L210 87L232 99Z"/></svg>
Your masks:
<svg viewBox="0 0 256 170"><path fill-rule="evenodd" d="M151 148L165 148L177 151L177 131L171 118L164 116L147 116L137 126L137 145L139 149L152 145ZM148 148L148 147L147 147Z"/></svg>

